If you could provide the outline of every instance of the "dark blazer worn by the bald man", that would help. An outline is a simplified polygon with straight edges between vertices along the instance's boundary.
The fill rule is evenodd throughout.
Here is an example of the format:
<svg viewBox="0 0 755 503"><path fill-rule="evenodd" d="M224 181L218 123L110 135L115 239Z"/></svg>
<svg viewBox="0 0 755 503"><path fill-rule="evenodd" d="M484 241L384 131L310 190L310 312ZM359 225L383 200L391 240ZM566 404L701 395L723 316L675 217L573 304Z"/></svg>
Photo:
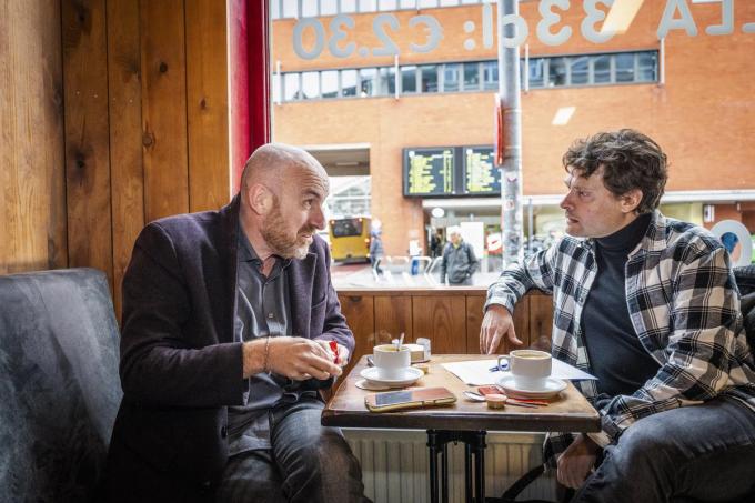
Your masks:
<svg viewBox="0 0 755 503"><path fill-rule="evenodd" d="M112 501L211 499L228 460L228 405L241 405L248 388L242 344L233 342L239 229L236 195L220 211L152 222L137 239L123 278L123 401L105 477ZM286 271L293 334L353 352L328 244L315 235Z"/></svg>

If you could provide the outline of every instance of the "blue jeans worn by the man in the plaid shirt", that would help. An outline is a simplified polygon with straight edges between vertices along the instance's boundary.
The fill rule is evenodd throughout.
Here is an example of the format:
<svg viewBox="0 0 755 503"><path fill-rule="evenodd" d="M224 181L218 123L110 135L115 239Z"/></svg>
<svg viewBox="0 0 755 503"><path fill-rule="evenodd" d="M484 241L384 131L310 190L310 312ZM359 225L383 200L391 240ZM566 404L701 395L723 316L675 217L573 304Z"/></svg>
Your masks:
<svg viewBox="0 0 755 503"><path fill-rule="evenodd" d="M752 494L755 412L717 398L630 426L572 503L728 502Z"/></svg>

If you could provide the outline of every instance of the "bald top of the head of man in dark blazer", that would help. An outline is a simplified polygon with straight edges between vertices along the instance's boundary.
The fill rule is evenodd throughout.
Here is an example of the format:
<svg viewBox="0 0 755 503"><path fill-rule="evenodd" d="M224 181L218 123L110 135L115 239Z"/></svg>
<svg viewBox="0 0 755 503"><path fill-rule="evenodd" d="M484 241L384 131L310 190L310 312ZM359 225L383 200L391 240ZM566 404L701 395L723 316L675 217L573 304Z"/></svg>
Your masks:
<svg viewBox="0 0 755 503"><path fill-rule="evenodd" d="M314 174L328 180L328 173L311 153L284 143L266 143L252 153L241 174L242 190L254 183L262 183L280 193L283 180L292 171L296 174Z"/></svg>

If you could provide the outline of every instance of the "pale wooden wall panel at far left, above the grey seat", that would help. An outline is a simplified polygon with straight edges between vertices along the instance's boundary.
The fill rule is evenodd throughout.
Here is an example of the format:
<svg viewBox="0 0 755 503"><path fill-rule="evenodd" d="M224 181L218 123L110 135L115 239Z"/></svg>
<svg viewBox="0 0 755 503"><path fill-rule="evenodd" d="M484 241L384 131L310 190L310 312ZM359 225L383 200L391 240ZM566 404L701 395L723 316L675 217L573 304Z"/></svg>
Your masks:
<svg viewBox="0 0 755 503"><path fill-rule="evenodd" d="M0 2L0 274L68 263L60 3Z"/></svg>

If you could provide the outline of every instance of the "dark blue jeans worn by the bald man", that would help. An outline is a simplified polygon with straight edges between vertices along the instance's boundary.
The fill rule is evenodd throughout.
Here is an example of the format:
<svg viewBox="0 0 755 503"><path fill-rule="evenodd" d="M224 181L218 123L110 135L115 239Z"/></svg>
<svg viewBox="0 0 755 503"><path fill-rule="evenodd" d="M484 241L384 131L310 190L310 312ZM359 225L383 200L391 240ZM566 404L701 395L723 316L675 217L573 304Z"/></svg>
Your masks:
<svg viewBox="0 0 755 503"><path fill-rule="evenodd" d="M231 456L215 501L369 501L359 462L341 431L320 425L322 409L312 398L272 409L272 449Z"/></svg>

